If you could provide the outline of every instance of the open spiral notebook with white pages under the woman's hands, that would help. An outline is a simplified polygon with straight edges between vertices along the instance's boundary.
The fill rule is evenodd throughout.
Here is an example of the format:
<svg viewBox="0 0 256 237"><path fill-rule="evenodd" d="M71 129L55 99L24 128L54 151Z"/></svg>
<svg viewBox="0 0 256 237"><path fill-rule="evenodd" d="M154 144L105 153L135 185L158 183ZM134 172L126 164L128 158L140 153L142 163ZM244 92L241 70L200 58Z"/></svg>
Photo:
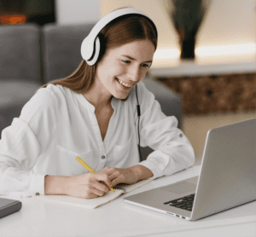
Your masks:
<svg viewBox="0 0 256 237"><path fill-rule="evenodd" d="M113 199L117 199L122 194L130 193L131 191L142 187L148 182L151 182L151 180L145 179L135 184L119 184L115 188L113 188L114 192L109 191L108 194L95 199L79 199L79 198L74 198L67 195L41 195L41 196L33 196L33 198L44 199L45 201L51 201L51 202L64 204L64 205L73 205L73 206L93 209L100 205L104 205L112 201Z"/></svg>

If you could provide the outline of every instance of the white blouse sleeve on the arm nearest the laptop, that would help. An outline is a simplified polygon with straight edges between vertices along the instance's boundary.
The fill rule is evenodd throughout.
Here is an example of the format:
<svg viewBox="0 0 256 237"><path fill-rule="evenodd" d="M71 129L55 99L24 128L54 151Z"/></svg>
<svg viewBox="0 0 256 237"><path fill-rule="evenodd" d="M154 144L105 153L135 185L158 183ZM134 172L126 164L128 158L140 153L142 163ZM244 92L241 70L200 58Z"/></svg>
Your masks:
<svg viewBox="0 0 256 237"><path fill-rule="evenodd" d="M154 149L140 165L153 172L152 179L170 176L194 165L194 149L183 131L177 128L177 119L162 113L159 102L144 84L138 89L141 146Z"/></svg>

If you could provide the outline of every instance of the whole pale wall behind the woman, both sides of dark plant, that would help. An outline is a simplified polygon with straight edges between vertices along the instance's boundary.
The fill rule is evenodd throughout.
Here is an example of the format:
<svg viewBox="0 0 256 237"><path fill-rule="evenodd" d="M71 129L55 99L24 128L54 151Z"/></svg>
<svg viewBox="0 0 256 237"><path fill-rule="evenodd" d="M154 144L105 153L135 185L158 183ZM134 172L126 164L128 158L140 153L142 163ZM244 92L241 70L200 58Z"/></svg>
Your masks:
<svg viewBox="0 0 256 237"><path fill-rule="evenodd" d="M204 0L209 3L210 0ZM169 0L56 0L56 19L58 24L91 23L100 20L102 15L121 7L140 9L152 20L159 31L159 46L154 55L153 67L177 66L179 47L177 33L167 13L172 10ZM219 61L256 61L256 1L255 0L212 0L210 10L198 32L197 49L222 45L236 45L229 49L231 55L197 56L197 63L216 63ZM247 44L244 48L237 44ZM236 50L240 53L236 53ZM247 51L245 54L241 51ZM250 51L253 51L250 52ZM203 50L206 52L206 50ZM223 49L213 49L211 54L223 53ZM196 51L200 54L200 51ZM236 55L232 55L236 53Z"/></svg>

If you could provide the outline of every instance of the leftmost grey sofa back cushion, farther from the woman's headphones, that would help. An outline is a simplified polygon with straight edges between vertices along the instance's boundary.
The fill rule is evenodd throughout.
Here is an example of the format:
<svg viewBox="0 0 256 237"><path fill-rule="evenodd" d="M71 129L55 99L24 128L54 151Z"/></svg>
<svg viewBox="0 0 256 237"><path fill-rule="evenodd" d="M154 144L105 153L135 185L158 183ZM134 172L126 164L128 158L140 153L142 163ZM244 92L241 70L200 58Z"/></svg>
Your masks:
<svg viewBox="0 0 256 237"><path fill-rule="evenodd" d="M40 32L33 24L0 26L0 83L2 78L40 80Z"/></svg>

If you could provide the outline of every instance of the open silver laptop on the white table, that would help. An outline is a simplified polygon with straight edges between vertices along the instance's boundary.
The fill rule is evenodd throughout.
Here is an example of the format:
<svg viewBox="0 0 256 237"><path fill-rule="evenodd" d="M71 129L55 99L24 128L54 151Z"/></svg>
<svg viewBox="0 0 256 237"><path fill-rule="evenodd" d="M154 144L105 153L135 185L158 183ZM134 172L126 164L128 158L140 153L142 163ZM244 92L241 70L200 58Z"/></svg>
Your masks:
<svg viewBox="0 0 256 237"><path fill-rule="evenodd" d="M256 119L207 132L199 176L124 198L195 221L256 199Z"/></svg>

